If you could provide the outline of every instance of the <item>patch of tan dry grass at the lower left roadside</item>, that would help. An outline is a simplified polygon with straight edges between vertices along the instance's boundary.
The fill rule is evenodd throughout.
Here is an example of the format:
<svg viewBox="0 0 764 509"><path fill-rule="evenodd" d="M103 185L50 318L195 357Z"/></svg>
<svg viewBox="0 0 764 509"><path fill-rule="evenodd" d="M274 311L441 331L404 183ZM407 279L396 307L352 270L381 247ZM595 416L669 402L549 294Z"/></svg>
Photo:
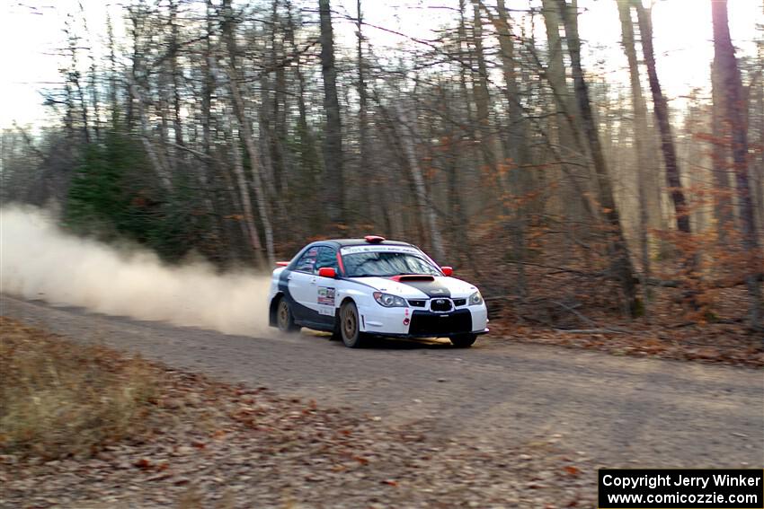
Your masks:
<svg viewBox="0 0 764 509"><path fill-rule="evenodd" d="M0 451L84 457L136 433L159 372L0 317Z"/></svg>

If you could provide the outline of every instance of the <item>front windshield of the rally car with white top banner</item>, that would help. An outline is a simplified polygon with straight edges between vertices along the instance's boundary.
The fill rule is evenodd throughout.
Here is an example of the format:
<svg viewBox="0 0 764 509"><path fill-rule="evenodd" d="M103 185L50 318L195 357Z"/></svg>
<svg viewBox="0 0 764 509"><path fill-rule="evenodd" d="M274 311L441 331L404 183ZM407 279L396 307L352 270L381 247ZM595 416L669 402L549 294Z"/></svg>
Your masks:
<svg viewBox="0 0 764 509"><path fill-rule="evenodd" d="M440 270L426 259L403 252L363 252L342 256L347 275L400 276L402 274L427 274L440 276Z"/></svg>

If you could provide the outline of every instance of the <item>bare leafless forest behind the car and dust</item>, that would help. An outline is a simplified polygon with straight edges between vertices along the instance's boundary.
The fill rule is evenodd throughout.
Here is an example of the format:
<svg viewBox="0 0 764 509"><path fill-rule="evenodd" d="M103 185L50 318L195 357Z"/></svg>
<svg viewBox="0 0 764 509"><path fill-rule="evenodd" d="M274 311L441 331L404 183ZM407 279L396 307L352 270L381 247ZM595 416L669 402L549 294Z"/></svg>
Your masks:
<svg viewBox="0 0 764 509"><path fill-rule="evenodd" d="M710 86L672 101L648 3L605 1L627 86L576 0L444 1L437 37L395 53L370 0L132 0L104 55L80 4L44 92L57 121L4 129L0 197L167 264L264 271L374 233L475 281L492 320L758 335L764 28L742 57L726 0L692 2L712 13Z"/></svg>

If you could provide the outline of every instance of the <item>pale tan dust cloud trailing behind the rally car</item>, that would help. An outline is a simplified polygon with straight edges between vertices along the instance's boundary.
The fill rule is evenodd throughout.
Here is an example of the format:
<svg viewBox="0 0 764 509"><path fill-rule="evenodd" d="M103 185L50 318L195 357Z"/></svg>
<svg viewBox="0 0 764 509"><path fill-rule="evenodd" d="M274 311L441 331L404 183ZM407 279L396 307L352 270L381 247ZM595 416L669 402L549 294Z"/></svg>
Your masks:
<svg viewBox="0 0 764 509"><path fill-rule="evenodd" d="M0 291L93 312L227 334L267 331L270 276L178 267L135 246L121 248L63 232L47 212L0 209Z"/></svg>

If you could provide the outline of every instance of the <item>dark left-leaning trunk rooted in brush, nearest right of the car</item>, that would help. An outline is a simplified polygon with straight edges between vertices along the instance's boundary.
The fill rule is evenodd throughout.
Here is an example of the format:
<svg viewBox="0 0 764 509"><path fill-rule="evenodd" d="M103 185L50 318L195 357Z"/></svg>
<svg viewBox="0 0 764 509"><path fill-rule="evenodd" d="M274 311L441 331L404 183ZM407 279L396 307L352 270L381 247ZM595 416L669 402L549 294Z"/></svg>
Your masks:
<svg viewBox="0 0 764 509"><path fill-rule="evenodd" d="M614 272L621 283L626 303L629 311L634 314L637 312L636 288L634 284L634 269L629 258L628 246L624 238L623 228L621 226L620 216L613 197L613 189L610 185L608 166L605 162L605 156L602 153L600 145L600 135L597 124L594 121L594 115L591 111L591 102L589 100L589 91L586 81L583 79L583 69L581 65L581 40L578 36L577 23L574 20L576 13L576 4L567 4L565 0L557 0L560 13L565 26L565 36L568 43L568 53L571 57L571 70L573 72L573 83L575 95L578 100L578 107L581 111L583 132L588 141L591 159L594 163L594 170L597 172L597 184L599 189L600 205L604 209L605 217L611 228L610 241L611 254L613 259Z"/></svg>

